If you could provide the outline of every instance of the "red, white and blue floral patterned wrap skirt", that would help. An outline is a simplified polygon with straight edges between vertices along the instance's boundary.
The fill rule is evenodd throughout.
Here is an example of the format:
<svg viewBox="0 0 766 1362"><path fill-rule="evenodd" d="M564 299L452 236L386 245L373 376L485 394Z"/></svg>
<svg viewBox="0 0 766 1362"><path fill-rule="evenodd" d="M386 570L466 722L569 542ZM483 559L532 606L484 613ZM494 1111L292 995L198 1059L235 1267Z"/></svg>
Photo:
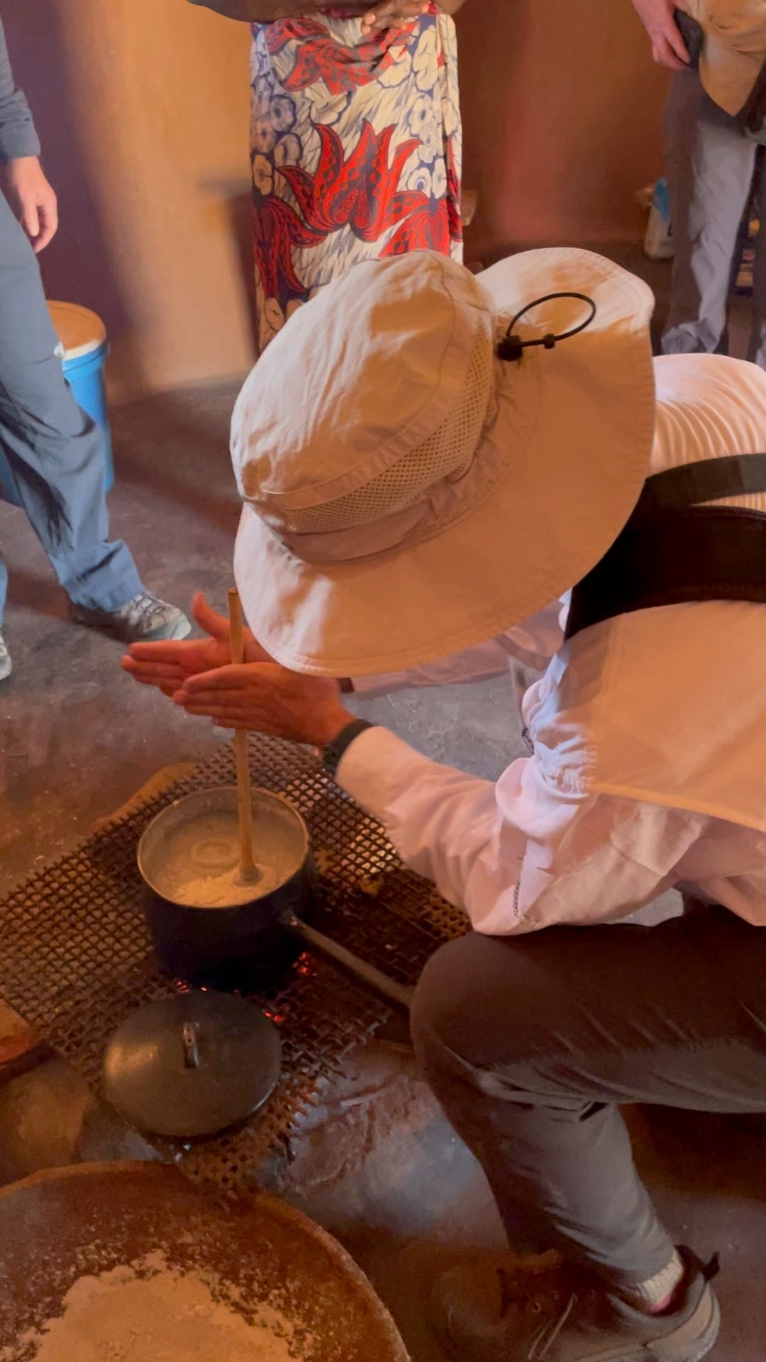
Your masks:
<svg viewBox="0 0 766 1362"><path fill-rule="evenodd" d="M384 33L337 11L254 25L260 346L358 260L462 256L457 35L436 5Z"/></svg>

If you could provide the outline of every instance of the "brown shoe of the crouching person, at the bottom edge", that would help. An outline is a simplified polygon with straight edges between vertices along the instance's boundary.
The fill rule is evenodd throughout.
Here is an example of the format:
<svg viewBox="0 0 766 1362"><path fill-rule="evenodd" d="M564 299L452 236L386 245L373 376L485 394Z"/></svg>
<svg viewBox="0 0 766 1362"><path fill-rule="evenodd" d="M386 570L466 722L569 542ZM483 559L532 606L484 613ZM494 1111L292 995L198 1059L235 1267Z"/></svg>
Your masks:
<svg viewBox="0 0 766 1362"><path fill-rule="evenodd" d="M717 1267L679 1253L687 1273L664 1314L634 1310L549 1253L448 1272L433 1291L436 1324L459 1362L699 1362L718 1333Z"/></svg>

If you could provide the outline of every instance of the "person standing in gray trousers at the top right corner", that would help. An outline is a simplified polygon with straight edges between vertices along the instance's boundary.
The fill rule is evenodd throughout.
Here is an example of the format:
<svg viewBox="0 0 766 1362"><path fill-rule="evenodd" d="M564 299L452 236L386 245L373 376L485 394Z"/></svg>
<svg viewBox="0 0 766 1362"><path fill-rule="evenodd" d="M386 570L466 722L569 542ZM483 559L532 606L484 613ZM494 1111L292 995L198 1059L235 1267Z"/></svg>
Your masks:
<svg viewBox="0 0 766 1362"><path fill-rule="evenodd" d="M740 229L758 191L766 223L765 109L748 110L766 61L765 0L634 0L654 60L675 75L665 109L665 173L675 259L664 354L726 353ZM761 104L761 101L758 101ZM754 272L747 358L766 368L766 229Z"/></svg>

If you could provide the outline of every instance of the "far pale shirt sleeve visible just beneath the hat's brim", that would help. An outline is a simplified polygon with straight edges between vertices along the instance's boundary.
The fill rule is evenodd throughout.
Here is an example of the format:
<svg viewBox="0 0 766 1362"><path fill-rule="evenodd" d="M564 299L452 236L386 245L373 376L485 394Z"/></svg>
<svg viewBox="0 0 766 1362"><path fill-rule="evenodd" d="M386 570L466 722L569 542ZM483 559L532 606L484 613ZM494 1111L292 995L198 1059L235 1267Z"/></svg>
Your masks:
<svg viewBox="0 0 766 1362"><path fill-rule="evenodd" d="M395 691L487 681L489 677L503 676L514 662L542 671L562 646L560 616L562 603L556 601L507 633L466 648L465 652L457 652L451 658L409 671L354 677L354 692L363 700L372 700L375 696L393 695Z"/></svg>

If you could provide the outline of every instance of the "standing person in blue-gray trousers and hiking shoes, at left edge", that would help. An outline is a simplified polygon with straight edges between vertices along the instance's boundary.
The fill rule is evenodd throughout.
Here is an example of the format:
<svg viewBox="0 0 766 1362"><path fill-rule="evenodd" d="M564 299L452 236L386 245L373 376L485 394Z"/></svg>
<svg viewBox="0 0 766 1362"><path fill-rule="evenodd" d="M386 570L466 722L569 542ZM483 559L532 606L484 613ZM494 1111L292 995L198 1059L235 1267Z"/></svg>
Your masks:
<svg viewBox="0 0 766 1362"><path fill-rule="evenodd" d="M129 550L109 541L104 447L57 358L35 260L57 226L29 105L14 86L0 20L0 448L19 500L72 602L72 618L123 642L183 639L187 617L140 583ZM11 674L1 627L8 572L0 557L0 681Z"/></svg>

